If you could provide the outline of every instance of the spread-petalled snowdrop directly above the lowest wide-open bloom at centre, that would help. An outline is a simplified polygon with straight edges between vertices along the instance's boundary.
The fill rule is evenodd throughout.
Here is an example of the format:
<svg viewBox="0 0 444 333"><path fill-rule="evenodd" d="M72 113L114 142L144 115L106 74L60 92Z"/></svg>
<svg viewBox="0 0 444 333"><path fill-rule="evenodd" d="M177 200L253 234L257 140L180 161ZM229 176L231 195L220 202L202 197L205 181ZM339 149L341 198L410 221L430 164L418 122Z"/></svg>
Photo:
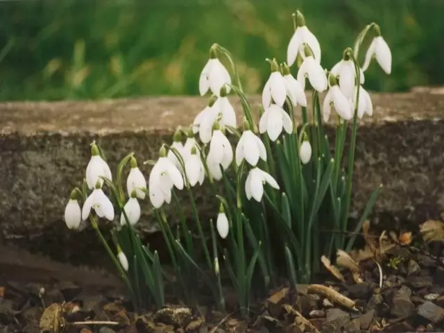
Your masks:
<svg viewBox="0 0 444 333"><path fill-rule="evenodd" d="M245 158L252 167L255 167L257 162L259 162L259 157L266 161L264 143L251 130L244 130L236 146L237 165L241 165L242 160Z"/></svg>

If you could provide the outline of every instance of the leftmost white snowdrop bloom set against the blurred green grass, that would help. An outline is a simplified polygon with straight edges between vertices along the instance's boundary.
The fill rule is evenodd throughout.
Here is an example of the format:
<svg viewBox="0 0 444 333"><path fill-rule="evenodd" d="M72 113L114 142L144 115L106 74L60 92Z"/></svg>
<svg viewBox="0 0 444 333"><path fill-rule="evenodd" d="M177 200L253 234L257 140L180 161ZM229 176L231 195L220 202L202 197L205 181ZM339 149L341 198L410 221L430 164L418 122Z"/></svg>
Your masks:
<svg viewBox="0 0 444 333"><path fill-rule="evenodd" d="M223 87L225 83L229 85L231 84L230 74L222 65L222 62L217 58L216 49L217 45L213 44L210 49L210 59L200 73L200 96L205 95L208 89L210 89L212 93L216 96L219 96L219 93L221 92L221 87ZM230 87L227 88L227 91L230 92Z"/></svg>

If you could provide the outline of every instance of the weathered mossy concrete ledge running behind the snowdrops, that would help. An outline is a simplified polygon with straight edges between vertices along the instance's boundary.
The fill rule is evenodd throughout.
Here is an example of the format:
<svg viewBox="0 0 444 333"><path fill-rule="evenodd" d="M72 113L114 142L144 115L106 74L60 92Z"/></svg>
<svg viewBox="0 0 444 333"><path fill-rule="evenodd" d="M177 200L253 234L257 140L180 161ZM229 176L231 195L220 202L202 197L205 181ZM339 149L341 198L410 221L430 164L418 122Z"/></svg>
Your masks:
<svg viewBox="0 0 444 333"><path fill-rule="evenodd" d="M418 88L372 98L374 116L359 122L352 215L362 212L382 184L375 221L388 216L398 223L419 223L438 217L444 211L443 90ZM260 97L249 100L256 111ZM232 101L240 116L239 100ZM71 189L80 186L85 175L90 142L95 139L105 149L112 170L134 152L148 178L150 167L142 162L155 160L176 126L188 126L205 104L206 99L194 96L1 103L3 241L31 250L51 248L58 259L75 258L96 240L92 232L91 237L69 232L62 219ZM329 133L334 141L332 128ZM196 197L205 212L216 212L204 189ZM142 230L156 230L151 205L145 203L142 210Z"/></svg>

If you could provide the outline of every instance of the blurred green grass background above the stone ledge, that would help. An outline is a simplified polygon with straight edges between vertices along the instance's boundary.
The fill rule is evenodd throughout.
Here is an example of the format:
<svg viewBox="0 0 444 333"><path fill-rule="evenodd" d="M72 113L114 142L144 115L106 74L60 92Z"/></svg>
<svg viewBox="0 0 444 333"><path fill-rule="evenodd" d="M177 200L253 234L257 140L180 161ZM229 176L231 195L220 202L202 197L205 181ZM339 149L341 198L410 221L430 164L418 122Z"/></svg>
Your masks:
<svg viewBox="0 0 444 333"><path fill-rule="evenodd" d="M330 68L377 22L391 76L371 65L366 87L444 83L443 0L52 0L0 3L0 100L198 94L213 42L235 56L247 92L285 60L291 13L302 10ZM293 69L294 70L294 69Z"/></svg>

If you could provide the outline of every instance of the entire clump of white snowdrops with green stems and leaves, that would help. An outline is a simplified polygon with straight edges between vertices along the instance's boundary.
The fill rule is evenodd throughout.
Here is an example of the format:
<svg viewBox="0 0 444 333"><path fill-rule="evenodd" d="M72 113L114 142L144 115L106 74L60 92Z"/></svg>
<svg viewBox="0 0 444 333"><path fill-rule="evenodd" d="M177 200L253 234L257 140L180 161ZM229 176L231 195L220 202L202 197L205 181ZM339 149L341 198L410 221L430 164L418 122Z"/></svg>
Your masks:
<svg viewBox="0 0 444 333"><path fill-rule="evenodd" d="M345 234L358 119L373 114L370 95L364 89L364 71L375 58L390 74L391 51L379 26L369 24L353 48L339 53L341 60L328 71L321 66L321 46L302 13L296 12L293 22L287 62L266 60L271 74L257 108L244 95L230 52L219 44L211 46L198 82L200 96L209 96L207 106L189 128L178 128L171 145L160 147L157 161L147 161L153 165L148 186L133 154L120 162L114 178L103 151L92 144L83 189L72 191L65 221L76 229L81 221L89 220L137 309L153 303L162 306L165 284L178 288L187 302L193 302L196 281L205 282L216 305L223 309L223 284L230 281L241 313L248 315L253 296L266 294L279 283L278 278L287 278L291 284L309 282L321 255L350 250L354 239ZM373 40L361 67L359 49L368 35ZM228 60L231 72L221 59ZM310 107L305 94L308 83L313 88ZM229 94L241 100L238 113ZM336 125L334 145L325 135L330 118ZM350 139L347 149L346 137ZM124 191L122 174L128 164ZM196 187L204 182L219 203L215 222L203 220L194 199ZM178 191L186 192L187 203L179 199ZM357 230L378 191L370 196L355 225ZM173 278L135 230L141 216L139 202L146 197L164 236ZM192 216L183 213L185 204L191 205ZM165 205L175 205L178 212L174 231ZM99 219L116 223L113 248L101 234ZM204 232L208 229L210 242ZM197 230L198 237L191 230Z"/></svg>

